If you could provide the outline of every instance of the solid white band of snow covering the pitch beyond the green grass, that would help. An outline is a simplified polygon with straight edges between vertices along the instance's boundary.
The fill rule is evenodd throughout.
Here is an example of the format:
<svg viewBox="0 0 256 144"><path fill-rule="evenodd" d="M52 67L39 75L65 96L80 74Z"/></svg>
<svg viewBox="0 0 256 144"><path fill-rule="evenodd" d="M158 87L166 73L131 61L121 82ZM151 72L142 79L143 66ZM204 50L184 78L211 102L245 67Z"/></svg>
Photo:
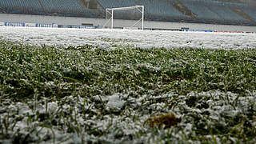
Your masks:
<svg viewBox="0 0 256 144"><path fill-rule="evenodd" d="M140 48L253 49L256 34L150 31L86 30L60 28L0 27L0 37L32 45L85 46L101 48L134 46Z"/></svg>

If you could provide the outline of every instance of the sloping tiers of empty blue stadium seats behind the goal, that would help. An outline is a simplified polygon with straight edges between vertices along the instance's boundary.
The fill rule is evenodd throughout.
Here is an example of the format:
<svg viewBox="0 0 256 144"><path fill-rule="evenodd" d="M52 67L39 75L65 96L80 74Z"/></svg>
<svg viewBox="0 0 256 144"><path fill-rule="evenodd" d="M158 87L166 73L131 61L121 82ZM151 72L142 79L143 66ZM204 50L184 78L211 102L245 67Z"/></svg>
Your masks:
<svg viewBox="0 0 256 144"><path fill-rule="evenodd" d="M245 2L229 0L0 0L0 13L105 18L105 9L145 6L146 20L256 26L256 13ZM115 18L136 18L120 11Z"/></svg>

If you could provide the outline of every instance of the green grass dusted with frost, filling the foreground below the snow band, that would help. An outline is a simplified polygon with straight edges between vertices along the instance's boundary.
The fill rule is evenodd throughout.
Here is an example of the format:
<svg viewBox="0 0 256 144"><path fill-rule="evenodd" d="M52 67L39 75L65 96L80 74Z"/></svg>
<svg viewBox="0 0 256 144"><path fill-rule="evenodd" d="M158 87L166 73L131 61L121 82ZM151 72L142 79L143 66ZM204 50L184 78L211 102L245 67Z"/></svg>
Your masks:
<svg viewBox="0 0 256 144"><path fill-rule="evenodd" d="M255 86L256 50L1 40L0 143L255 143Z"/></svg>

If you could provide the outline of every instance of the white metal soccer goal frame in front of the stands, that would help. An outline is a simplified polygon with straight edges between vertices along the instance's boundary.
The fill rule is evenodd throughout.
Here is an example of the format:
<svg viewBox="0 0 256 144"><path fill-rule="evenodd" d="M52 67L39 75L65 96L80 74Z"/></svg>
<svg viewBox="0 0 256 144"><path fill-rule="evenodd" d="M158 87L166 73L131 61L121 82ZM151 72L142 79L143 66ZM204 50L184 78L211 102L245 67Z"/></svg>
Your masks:
<svg viewBox="0 0 256 144"><path fill-rule="evenodd" d="M113 29L114 27L114 11L122 11L122 10L138 10L141 14L139 16L139 20L134 23L134 25L130 26L129 28L133 28L138 24L138 22L142 22L142 30L144 30L144 6L128 6L128 7L117 7L117 8L106 8L106 23L103 27L106 27L107 24L111 23L110 28ZM129 14L129 12L127 12ZM110 14L110 18L108 18Z"/></svg>

